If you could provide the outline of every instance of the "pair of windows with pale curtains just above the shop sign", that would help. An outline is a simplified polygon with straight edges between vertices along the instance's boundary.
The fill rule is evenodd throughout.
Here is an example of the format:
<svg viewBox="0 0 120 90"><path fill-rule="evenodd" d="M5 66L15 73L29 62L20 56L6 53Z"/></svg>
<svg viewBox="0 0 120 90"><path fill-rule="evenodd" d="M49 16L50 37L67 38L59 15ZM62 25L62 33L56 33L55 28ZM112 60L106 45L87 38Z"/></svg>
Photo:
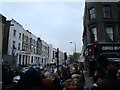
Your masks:
<svg viewBox="0 0 120 90"><path fill-rule="evenodd" d="M107 41L114 41L113 27L105 27ZM98 40L97 28L91 28L92 38L95 42Z"/></svg>

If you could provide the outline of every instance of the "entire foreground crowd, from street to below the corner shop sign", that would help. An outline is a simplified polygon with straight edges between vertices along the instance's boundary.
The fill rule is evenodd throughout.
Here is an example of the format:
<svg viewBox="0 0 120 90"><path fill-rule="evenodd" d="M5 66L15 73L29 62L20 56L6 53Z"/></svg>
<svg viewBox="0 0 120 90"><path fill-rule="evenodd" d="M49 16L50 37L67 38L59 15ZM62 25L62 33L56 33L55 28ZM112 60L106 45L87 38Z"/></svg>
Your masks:
<svg viewBox="0 0 120 90"><path fill-rule="evenodd" d="M85 88L83 64L30 68L21 76L16 90L120 90L120 68L109 65L105 73L95 73L93 86Z"/></svg>

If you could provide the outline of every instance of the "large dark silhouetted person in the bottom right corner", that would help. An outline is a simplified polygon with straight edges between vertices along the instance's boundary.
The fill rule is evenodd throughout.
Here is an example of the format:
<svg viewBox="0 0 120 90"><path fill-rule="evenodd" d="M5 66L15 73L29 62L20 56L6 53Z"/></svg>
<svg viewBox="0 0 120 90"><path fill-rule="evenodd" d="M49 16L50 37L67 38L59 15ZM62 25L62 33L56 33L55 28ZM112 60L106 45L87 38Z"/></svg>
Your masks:
<svg viewBox="0 0 120 90"><path fill-rule="evenodd" d="M106 78L97 84L97 90L120 90L120 85L117 80L117 67L107 67Z"/></svg>

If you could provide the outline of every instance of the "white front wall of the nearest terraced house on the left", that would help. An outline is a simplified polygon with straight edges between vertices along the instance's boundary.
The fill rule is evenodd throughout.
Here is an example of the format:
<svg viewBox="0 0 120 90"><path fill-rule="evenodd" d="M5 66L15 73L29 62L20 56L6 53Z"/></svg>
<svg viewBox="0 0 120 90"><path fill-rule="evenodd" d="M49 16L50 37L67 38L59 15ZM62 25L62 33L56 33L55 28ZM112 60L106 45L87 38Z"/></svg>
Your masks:
<svg viewBox="0 0 120 90"><path fill-rule="evenodd" d="M8 39L8 55L18 55L22 50L22 32L24 31L22 25L11 20ZM14 48L13 48L14 44Z"/></svg>

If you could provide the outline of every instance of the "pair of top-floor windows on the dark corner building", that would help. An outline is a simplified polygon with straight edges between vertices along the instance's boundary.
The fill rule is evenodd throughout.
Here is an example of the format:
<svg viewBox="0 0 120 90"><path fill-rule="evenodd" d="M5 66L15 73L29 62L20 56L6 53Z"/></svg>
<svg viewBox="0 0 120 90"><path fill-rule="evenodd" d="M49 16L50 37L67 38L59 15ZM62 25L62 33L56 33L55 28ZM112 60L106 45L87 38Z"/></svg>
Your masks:
<svg viewBox="0 0 120 90"><path fill-rule="evenodd" d="M103 16L105 18L111 18L112 17L112 12L111 12L111 6L110 5L105 5L103 6ZM96 13L95 13L95 8L89 9L89 19L95 19L96 18Z"/></svg>

